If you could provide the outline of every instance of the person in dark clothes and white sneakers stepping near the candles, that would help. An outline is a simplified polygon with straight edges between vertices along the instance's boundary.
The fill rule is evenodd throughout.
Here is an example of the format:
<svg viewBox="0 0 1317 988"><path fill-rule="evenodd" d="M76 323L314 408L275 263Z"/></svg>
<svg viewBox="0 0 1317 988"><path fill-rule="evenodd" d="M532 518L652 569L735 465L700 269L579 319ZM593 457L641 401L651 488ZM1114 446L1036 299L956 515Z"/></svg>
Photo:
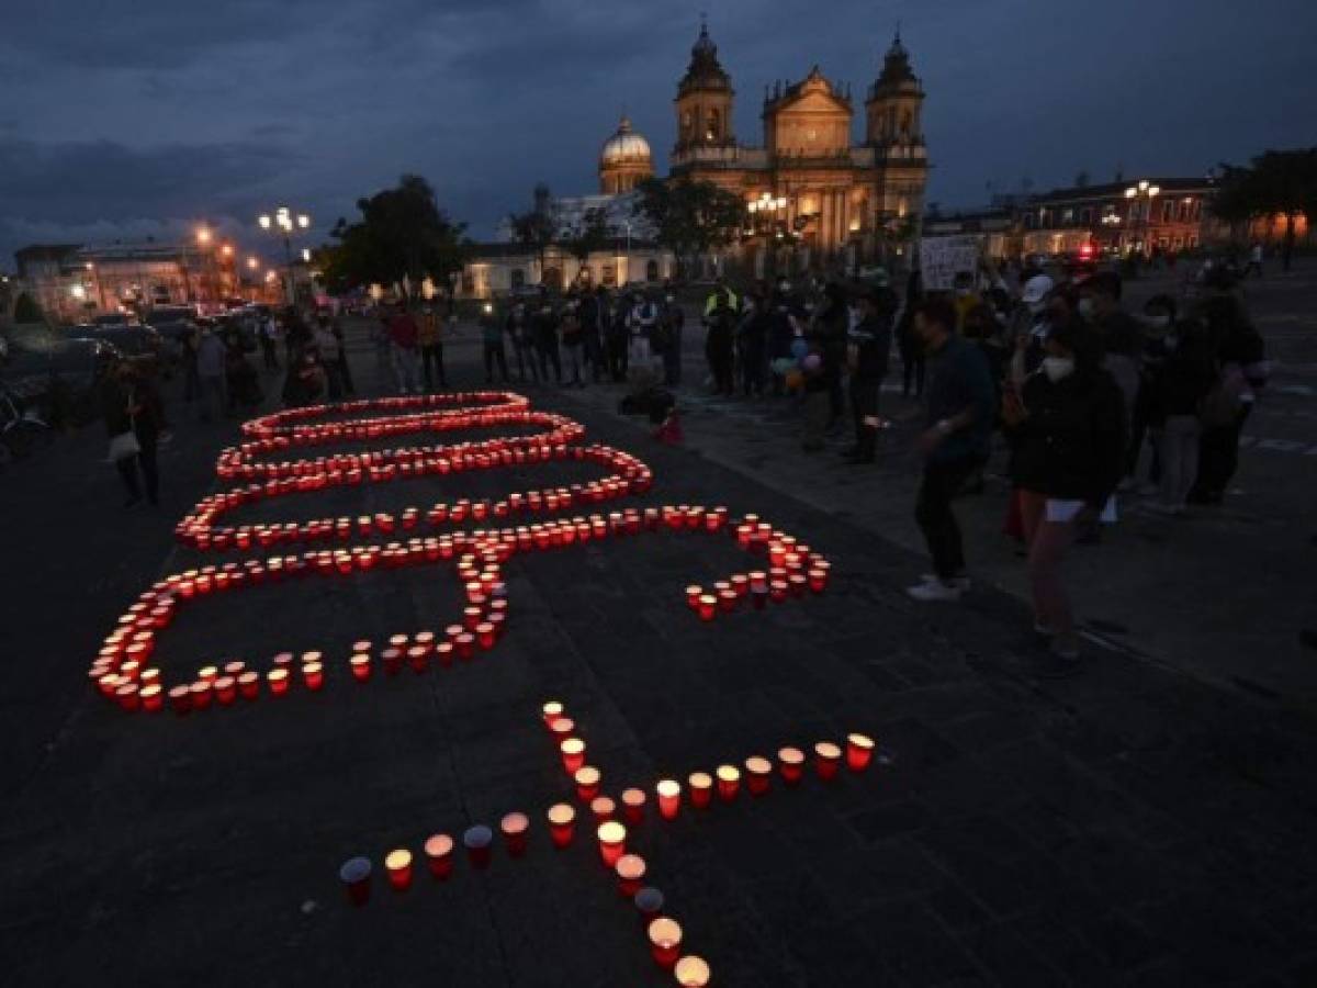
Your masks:
<svg viewBox="0 0 1317 988"><path fill-rule="evenodd" d="M914 514L934 572L906 593L917 601L956 601L969 578L951 502L988 457L993 382L982 350L956 336L956 310L950 302L915 303L911 325L932 365L926 428L918 440L925 464Z"/></svg>

